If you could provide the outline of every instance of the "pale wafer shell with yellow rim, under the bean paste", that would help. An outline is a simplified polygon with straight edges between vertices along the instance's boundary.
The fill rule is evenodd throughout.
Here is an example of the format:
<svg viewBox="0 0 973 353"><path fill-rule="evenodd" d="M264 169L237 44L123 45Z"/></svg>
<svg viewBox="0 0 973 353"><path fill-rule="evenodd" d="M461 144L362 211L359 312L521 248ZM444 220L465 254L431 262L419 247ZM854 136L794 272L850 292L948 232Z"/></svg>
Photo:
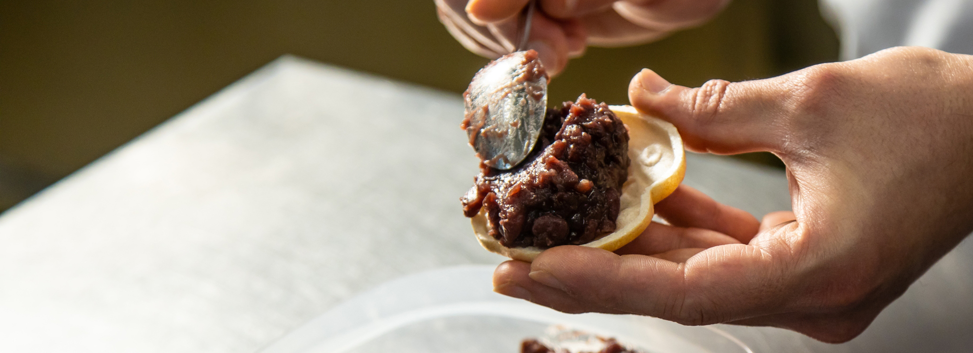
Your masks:
<svg viewBox="0 0 973 353"><path fill-rule="evenodd" d="M636 111L631 106L609 106L629 127L629 179L622 186L621 208L615 232L583 244L615 251L638 237L652 221L652 205L675 191L686 175L686 152L675 126ZM487 250L515 260L531 262L541 248L506 247L487 235L485 209L473 216L473 233Z"/></svg>

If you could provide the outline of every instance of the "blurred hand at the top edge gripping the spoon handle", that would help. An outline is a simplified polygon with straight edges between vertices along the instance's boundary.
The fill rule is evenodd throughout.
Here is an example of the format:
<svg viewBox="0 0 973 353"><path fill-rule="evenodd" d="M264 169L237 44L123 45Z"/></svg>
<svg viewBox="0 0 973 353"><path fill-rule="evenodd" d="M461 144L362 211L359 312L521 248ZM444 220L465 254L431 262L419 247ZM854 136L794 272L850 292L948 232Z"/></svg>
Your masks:
<svg viewBox="0 0 973 353"><path fill-rule="evenodd" d="M488 58L516 49L518 15L529 0L436 0L440 21L463 47ZM527 48L557 76L587 46L657 40L715 16L729 0L540 0Z"/></svg>

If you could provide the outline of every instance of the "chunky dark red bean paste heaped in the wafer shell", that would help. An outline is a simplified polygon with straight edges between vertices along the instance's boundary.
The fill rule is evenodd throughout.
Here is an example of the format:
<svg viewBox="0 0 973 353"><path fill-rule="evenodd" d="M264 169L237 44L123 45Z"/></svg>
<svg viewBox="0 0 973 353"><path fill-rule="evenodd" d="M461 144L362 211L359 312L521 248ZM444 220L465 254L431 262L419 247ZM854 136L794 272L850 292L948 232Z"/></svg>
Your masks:
<svg viewBox="0 0 973 353"><path fill-rule="evenodd" d="M486 209L489 236L507 247L583 244L615 231L629 170L629 133L604 103L584 94L547 110L540 138L511 170L480 164L460 200Z"/></svg>

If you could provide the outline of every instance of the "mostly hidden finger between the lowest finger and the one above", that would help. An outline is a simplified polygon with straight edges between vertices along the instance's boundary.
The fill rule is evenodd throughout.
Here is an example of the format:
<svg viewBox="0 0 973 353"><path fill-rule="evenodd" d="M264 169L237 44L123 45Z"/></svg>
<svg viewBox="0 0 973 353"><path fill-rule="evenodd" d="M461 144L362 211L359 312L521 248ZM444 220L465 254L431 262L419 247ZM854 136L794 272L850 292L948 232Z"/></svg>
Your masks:
<svg viewBox="0 0 973 353"><path fill-rule="evenodd" d="M652 222L638 238L615 250L615 253L620 255L654 255L683 248L701 248L702 250L729 243L739 243L739 241L707 229L672 227ZM667 258L667 260L670 259Z"/></svg>

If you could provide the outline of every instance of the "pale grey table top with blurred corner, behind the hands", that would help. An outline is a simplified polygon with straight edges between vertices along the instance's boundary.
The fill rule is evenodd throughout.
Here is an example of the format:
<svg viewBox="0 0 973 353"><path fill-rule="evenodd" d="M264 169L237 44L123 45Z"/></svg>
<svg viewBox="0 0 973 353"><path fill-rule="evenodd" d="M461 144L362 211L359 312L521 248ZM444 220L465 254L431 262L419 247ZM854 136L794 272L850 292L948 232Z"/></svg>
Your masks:
<svg viewBox="0 0 973 353"><path fill-rule="evenodd" d="M461 114L452 93L270 63L0 216L0 351L253 352L392 278L499 263L459 210ZM789 208L779 171L688 158L721 202ZM960 352L971 327L964 241L849 343L727 330L761 352Z"/></svg>

